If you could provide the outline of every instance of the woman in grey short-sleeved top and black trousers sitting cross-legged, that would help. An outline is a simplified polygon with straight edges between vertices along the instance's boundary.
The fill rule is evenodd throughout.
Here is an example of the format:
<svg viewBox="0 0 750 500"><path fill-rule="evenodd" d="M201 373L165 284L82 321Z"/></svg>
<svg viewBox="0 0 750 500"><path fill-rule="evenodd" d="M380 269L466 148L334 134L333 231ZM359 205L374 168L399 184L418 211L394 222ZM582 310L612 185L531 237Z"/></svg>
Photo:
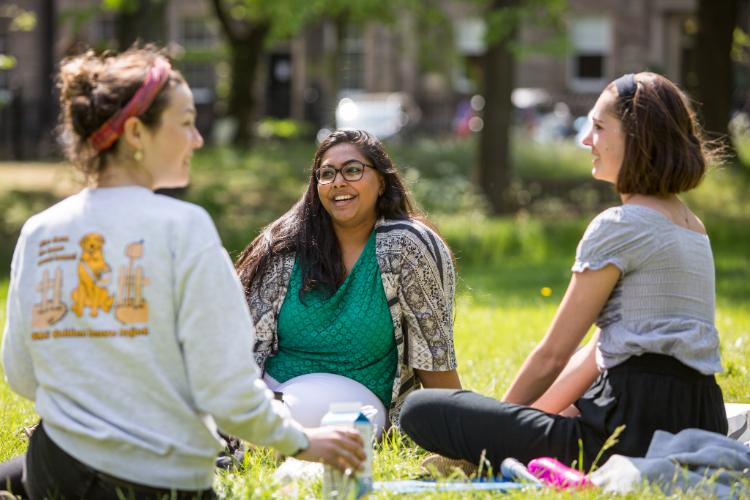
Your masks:
<svg viewBox="0 0 750 500"><path fill-rule="evenodd" d="M621 425L604 458L643 456L657 429L726 433L711 246L677 197L706 169L695 115L672 82L639 73L608 85L592 119L593 176L623 204L589 225L552 325L502 401L466 391L407 399L401 427L424 448L475 464L484 450L497 470L506 457L570 464L580 440L590 467Z"/></svg>

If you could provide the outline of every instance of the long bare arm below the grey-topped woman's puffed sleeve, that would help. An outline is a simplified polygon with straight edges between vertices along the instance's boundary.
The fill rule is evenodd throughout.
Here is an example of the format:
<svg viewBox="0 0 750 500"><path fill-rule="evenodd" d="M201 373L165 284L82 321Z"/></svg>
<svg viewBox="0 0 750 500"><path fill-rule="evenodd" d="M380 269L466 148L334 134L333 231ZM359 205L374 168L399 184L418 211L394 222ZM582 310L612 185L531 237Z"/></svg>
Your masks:
<svg viewBox="0 0 750 500"><path fill-rule="evenodd" d="M611 264L596 271L573 273L552 325L524 361L503 401L530 405L547 391L594 323L619 277L620 270Z"/></svg>

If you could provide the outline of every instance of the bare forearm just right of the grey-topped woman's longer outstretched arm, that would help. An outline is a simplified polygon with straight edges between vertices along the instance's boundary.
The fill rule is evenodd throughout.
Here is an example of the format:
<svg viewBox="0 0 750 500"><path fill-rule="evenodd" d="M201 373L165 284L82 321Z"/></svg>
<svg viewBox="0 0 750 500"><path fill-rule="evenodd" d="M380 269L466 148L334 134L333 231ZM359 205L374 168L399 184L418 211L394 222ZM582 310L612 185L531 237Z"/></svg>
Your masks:
<svg viewBox="0 0 750 500"><path fill-rule="evenodd" d="M589 342L577 350L562 373L555 379L542 397L537 399L532 408L548 413L560 413L569 408L578 398L583 396L599 375L596 366L596 343L599 340L599 330Z"/></svg>

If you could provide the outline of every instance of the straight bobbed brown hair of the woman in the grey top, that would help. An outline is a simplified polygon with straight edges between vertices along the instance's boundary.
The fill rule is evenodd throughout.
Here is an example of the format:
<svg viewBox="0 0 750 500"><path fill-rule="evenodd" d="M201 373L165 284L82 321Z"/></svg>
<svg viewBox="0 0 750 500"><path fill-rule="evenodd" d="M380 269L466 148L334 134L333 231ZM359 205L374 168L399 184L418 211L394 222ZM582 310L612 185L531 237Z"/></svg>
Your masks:
<svg viewBox="0 0 750 500"><path fill-rule="evenodd" d="M712 159L688 97L656 73L635 75L632 96L619 96L614 114L622 123L625 154L615 189L622 194L666 196L697 187Z"/></svg>

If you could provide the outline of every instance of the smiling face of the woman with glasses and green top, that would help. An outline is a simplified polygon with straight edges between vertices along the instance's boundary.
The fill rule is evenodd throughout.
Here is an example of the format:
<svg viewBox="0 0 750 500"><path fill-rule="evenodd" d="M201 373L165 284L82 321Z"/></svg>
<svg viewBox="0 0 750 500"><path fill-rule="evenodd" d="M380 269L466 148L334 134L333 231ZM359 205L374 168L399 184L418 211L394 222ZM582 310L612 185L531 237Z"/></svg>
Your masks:
<svg viewBox="0 0 750 500"><path fill-rule="evenodd" d="M323 154L318 168L330 166L340 169L354 161L364 165L372 164L356 146L342 143ZM383 176L371 167L365 167L362 178L358 181L347 181L337 172L333 182L317 185L320 203L331 216L336 229L375 224L375 206L384 187Z"/></svg>

